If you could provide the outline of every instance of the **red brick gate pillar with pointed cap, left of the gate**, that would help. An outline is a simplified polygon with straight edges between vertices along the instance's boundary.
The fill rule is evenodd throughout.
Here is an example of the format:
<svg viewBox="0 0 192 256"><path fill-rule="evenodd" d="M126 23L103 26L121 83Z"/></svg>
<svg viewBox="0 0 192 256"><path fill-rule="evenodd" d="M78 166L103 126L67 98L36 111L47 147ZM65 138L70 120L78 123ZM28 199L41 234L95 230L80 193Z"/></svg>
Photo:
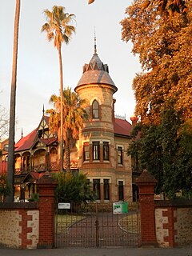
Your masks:
<svg viewBox="0 0 192 256"><path fill-rule="evenodd" d="M56 186L57 182L50 174L45 174L38 180L38 248L54 246L54 189Z"/></svg>

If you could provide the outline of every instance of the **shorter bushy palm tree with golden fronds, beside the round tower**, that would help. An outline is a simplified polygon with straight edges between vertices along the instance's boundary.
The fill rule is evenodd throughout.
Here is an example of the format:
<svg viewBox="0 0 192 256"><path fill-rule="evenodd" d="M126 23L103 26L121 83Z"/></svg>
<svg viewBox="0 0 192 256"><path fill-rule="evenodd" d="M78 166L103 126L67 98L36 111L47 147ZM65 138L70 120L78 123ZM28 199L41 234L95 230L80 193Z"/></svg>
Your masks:
<svg viewBox="0 0 192 256"><path fill-rule="evenodd" d="M70 171L70 150L78 140L79 130L82 129L83 123L88 120L85 110L86 100L79 98L78 94L71 92L67 88L63 90L63 127L60 120L60 97L55 94L50 97L50 102L54 104L54 109L46 110L50 114L50 131L58 132L58 139L62 139L61 130L64 131L64 145L66 157L66 171Z"/></svg>

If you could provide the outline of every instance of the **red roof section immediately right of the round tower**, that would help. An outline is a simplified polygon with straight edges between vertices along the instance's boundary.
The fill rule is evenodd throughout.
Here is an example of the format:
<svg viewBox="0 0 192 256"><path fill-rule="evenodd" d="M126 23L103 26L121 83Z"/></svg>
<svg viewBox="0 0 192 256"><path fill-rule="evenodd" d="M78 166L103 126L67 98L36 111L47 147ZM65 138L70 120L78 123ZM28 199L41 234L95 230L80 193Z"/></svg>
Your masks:
<svg viewBox="0 0 192 256"><path fill-rule="evenodd" d="M130 131L132 126L130 122L127 122L125 119L114 119L114 134L130 136Z"/></svg>

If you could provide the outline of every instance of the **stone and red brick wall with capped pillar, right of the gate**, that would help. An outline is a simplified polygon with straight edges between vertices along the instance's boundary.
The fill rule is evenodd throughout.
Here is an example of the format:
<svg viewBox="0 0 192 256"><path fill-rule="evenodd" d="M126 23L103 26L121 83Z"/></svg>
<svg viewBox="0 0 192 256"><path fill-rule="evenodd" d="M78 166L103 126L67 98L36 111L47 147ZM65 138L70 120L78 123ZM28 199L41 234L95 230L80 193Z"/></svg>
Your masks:
<svg viewBox="0 0 192 256"><path fill-rule="evenodd" d="M154 200L155 178L146 170L137 178L142 246L184 246L192 243L192 200Z"/></svg>

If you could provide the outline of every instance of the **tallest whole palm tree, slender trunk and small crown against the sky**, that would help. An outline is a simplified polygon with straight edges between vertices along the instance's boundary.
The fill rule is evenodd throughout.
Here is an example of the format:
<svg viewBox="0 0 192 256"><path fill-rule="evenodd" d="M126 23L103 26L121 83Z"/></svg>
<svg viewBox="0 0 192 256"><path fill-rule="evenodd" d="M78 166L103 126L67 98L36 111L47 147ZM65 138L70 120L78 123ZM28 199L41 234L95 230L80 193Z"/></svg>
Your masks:
<svg viewBox="0 0 192 256"><path fill-rule="evenodd" d="M74 14L65 13L65 7L53 6L52 12L45 10L47 22L42 26L42 31L46 31L48 41L54 39L54 47L58 50L58 59L60 67L60 99L63 102L63 73L62 73L62 42L68 44L71 35L75 32L74 26L69 25L74 20ZM63 109L61 107L61 127L63 126ZM60 171L63 169L63 130L61 129L60 141Z"/></svg>

